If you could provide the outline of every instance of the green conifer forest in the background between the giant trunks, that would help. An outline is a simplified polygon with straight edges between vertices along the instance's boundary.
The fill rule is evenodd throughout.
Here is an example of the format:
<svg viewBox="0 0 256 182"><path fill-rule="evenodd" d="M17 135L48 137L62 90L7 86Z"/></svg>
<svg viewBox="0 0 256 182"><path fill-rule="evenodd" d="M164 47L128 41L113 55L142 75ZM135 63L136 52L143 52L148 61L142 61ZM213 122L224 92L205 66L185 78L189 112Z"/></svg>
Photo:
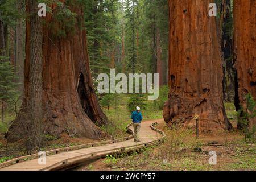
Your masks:
<svg viewBox="0 0 256 182"><path fill-rule="evenodd" d="M47 2L47 1L46 1ZM84 19L88 37L90 69L97 86L99 73L159 73L160 86L168 84L169 9L168 1L85 1ZM224 98L234 100L233 69L233 11L232 1L216 1L218 6L218 38L220 38L224 63ZM15 82L10 81L10 98L2 96L2 117L4 107L11 106L17 113L24 89L25 59L25 1L1 1L2 60L14 65ZM72 26L72 12L58 15ZM59 30L58 36L65 36ZM4 69L4 68L3 68ZM17 84L15 84L17 83ZM15 89L18 86L18 91ZM9 92L10 93L10 92ZM110 97L110 96L107 96ZM110 98L105 98L109 100ZM6 102L6 103L4 103ZM9 103L9 104L8 104ZM10 104L11 103L11 104ZM6 105L6 106L5 106ZM3 120L3 119L2 119Z"/></svg>

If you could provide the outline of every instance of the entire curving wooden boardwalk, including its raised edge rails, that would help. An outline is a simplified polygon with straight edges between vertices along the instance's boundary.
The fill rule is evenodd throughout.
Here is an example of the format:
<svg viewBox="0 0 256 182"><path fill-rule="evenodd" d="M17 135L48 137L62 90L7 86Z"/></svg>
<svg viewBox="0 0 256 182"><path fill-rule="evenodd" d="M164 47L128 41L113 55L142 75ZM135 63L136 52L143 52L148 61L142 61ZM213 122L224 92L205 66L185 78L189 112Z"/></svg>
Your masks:
<svg viewBox="0 0 256 182"><path fill-rule="evenodd" d="M129 137L96 142L80 146L60 148L46 152L46 164L38 164L37 154L22 156L0 164L0 171L42 171L57 170L67 166L85 162L89 159L104 157L115 152L129 151L145 146L162 142L165 137L163 131L154 127L156 122L163 122L163 119L155 121L144 121L140 131L141 142L134 142L133 135ZM127 130L133 133L133 126L128 125ZM80 149L79 149L80 148Z"/></svg>

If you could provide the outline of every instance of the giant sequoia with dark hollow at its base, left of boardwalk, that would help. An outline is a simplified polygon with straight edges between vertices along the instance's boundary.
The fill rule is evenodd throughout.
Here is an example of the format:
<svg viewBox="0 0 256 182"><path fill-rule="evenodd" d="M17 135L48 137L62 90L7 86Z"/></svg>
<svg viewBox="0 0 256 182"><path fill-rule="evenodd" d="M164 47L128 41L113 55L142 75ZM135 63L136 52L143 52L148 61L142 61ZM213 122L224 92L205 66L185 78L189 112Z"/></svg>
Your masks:
<svg viewBox="0 0 256 182"><path fill-rule="evenodd" d="M43 119L44 134L78 135L88 138L101 137L96 125L105 125L108 120L98 104L90 75L86 31L81 6L74 1L68 5L51 5L52 14L47 14L43 24ZM63 10L65 9L64 13ZM65 15L65 13L67 13ZM75 13L75 14L74 14ZM61 16L65 16L60 19ZM70 26L70 23L72 26ZM18 118L7 133L10 141L24 139L28 135L27 115L30 115L28 93L30 82L31 22L26 23L26 63L24 100ZM75 27L75 28L71 28Z"/></svg>

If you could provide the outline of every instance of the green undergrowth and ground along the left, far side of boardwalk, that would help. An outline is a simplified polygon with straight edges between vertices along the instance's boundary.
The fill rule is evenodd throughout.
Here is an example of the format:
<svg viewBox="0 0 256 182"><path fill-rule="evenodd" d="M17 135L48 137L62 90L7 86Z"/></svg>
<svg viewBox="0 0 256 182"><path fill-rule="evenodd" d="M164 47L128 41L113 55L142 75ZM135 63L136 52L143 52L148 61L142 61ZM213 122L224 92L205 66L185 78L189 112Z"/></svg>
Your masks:
<svg viewBox="0 0 256 182"><path fill-rule="evenodd" d="M126 107L128 99L129 98L125 95L119 96L115 100L115 104L113 104L109 109L103 108L105 114L109 118L109 121L114 123L114 127L113 125L101 127L101 130L105 133L108 133L109 136L102 140L117 139L129 135L129 133L126 132L126 126L131 122L130 112ZM147 102L147 110L143 111L143 117L145 119L161 118L162 111L158 109L152 109L152 103L150 101ZM8 130L11 121L13 121L15 117L15 113L7 110L5 113L5 123L0 122L0 163L16 158L18 156L28 155L26 147L22 142L7 143L4 139L4 135ZM40 148L41 151L49 151L56 148L64 148L85 143L98 142L98 140L92 140L88 138L69 137L68 134L62 134L60 137L51 135L46 135L44 137L46 140L44 147Z"/></svg>

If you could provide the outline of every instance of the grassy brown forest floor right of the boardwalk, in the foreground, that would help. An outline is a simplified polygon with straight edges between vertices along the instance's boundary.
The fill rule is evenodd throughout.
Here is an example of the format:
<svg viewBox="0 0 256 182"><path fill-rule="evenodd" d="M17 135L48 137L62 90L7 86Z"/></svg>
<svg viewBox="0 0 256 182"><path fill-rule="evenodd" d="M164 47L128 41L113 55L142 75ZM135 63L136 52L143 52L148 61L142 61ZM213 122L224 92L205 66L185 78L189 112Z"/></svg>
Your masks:
<svg viewBox="0 0 256 182"><path fill-rule="evenodd" d="M157 128L165 131L166 142L129 154L107 156L72 170L256 170L255 143L243 142L244 137L240 133L203 135L196 139L191 131L170 130L164 122L159 123ZM217 154L216 165L209 164L210 151Z"/></svg>

